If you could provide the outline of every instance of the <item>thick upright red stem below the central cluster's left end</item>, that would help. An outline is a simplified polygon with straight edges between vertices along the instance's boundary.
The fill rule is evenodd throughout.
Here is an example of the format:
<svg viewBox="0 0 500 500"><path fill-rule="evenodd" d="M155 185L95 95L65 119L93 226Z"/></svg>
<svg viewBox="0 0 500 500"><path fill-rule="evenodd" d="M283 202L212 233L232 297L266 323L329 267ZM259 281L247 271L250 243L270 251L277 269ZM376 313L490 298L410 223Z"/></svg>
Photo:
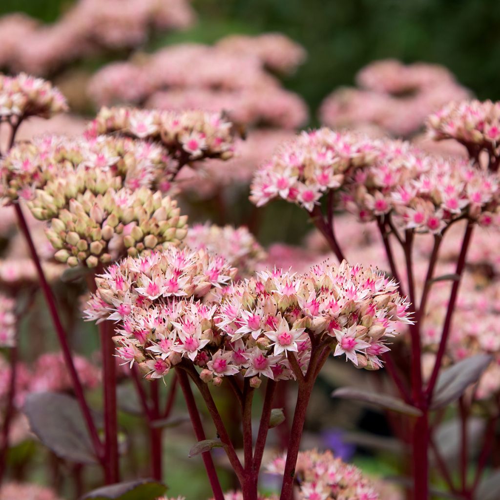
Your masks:
<svg viewBox="0 0 500 500"><path fill-rule="evenodd" d="M116 407L116 363L112 323L103 321L99 324L102 354L102 384L104 390L104 456L105 481L113 484L119 481L118 468L118 421Z"/></svg>

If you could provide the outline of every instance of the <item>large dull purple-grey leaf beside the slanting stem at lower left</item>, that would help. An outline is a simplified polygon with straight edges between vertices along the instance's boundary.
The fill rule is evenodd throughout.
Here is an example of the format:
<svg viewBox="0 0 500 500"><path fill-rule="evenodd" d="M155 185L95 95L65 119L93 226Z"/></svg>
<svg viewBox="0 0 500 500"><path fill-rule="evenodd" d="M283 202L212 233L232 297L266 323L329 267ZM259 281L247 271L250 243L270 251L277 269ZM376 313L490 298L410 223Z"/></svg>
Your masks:
<svg viewBox="0 0 500 500"><path fill-rule="evenodd" d="M33 433L57 456L77 463L97 463L76 399L56 392L38 392L28 394L23 409Z"/></svg>

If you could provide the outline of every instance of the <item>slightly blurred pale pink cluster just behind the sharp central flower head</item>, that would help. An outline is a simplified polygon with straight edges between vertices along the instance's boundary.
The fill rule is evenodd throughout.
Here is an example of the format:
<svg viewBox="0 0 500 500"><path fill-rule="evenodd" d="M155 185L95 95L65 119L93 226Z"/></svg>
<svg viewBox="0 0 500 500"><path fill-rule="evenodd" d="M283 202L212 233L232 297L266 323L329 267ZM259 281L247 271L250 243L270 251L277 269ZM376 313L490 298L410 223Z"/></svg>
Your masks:
<svg viewBox="0 0 500 500"><path fill-rule="evenodd" d="M194 224L187 229L183 244L194 250L206 250L224 257L240 274L249 275L265 258L265 252L253 234L244 227Z"/></svg>

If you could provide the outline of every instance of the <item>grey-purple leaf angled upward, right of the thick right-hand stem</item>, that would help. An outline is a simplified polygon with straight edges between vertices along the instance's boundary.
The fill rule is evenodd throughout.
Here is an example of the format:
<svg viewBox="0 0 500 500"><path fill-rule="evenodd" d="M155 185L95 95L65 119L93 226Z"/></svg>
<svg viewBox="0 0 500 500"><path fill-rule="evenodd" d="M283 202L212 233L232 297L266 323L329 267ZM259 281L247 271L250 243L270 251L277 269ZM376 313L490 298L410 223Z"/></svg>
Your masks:
<svg viewBox="0 0 500 500"><path fill-rule="evenodd" d="M442 370L437 378L430 408L441 408L456 401L471 383L479 379L491 359L489 354L476 354Z"/></svg>

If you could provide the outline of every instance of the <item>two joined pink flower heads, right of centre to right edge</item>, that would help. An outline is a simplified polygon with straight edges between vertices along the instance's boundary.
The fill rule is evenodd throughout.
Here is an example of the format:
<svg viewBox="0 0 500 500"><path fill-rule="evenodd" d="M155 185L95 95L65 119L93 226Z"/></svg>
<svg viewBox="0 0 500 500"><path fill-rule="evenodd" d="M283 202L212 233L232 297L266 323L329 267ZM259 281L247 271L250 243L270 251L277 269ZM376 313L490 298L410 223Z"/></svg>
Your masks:
<svg viewBox="0 0 500 500"><path fill-rule="evenodd" d="M418 231L437 233L464 216L483 225L497 218L494 175L465 161L427 156L407 142L328 128L302 132L264 163L250 200L261 206L281 197L311 212L325 193L336 191L362 221L393 213L402 227Z"/></svg>

